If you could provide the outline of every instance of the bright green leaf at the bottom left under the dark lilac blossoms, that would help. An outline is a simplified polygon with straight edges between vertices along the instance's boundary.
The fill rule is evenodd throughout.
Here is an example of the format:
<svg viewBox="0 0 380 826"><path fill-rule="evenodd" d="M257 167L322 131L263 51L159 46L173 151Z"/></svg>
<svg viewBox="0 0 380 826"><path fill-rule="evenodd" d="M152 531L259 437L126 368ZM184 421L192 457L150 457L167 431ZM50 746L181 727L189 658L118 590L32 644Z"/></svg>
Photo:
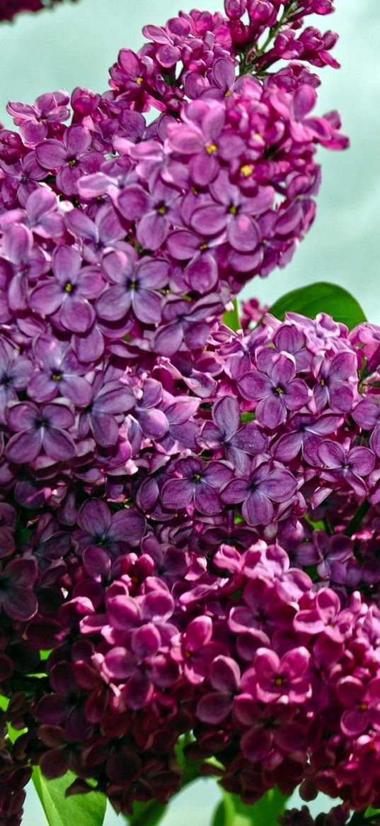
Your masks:
<svg viewBox="0 0 380 826"><path fill-rule="evenodd" d="M40 768L35 766L32 779L49 826L101 826L103 823L106 795L90 791L88 795L64 796L75 780L71 771L57 780L46 780Z"/></svg>

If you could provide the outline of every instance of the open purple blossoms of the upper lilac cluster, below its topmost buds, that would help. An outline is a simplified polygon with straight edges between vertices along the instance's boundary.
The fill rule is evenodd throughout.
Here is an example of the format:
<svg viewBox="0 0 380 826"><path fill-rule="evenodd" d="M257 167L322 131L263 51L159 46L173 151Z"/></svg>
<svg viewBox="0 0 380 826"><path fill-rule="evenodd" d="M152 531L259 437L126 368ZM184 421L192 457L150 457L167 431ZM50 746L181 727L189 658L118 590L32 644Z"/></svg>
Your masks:
<svg viewBox="0 0 380 826"><path fill-rule="evenodd" d="M237 85L223 101L190 102L180 120L165 116L138 143L143 116L124 111L113 160L87 118L63 126L63 93L10 105L28 149L0 133L3 317L21 307L48 317L85 361L105 338L126 337L130 354L171 355L204 344L248 278L284 267L315 214L316 144L346 140L335 119L307 116L312 86Z"/></svg>

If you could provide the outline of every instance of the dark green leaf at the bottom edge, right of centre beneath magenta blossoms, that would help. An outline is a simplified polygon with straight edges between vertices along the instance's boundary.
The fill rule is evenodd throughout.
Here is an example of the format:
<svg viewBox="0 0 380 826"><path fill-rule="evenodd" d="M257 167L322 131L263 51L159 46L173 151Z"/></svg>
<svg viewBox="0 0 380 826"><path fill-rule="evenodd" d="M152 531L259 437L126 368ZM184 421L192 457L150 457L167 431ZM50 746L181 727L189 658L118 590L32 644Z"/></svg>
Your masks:
<svg viewBox="0 0 380 826"><path fill-rule="evenodd" d="M224 792L213 814L212 826L275 826L288 800L279 789L271 789L254 805L242 803L237 795Z"/></svg>

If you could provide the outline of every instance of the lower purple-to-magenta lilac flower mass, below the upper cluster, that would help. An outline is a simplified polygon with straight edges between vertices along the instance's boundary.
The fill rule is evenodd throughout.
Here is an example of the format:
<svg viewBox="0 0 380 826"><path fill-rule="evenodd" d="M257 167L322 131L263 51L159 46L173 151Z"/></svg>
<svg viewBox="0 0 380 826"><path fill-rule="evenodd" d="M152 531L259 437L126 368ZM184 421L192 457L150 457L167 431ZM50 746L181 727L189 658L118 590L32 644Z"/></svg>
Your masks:
<svg viewBox="0 0 380 826"><path fill-rule="evenodd" d="M267 315L77 384L24 345L2 382L2 685L47 776L129 812L176 790L192 732L247 802L277 783L379 804L378 341Z"/></svg>

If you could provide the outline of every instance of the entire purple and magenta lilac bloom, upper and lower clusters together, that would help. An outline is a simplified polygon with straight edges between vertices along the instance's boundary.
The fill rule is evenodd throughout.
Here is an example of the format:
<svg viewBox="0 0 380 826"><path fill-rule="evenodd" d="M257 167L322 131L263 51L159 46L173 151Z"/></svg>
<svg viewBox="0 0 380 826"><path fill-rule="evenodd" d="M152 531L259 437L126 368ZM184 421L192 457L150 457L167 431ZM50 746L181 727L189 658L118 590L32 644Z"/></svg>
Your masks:
<svg viewBox="0 0 380 826"><path fill-rule="evenodd" d="M255 302L223 325L311 225L317 145L347 145L303 65L335 65L335 36L303 28L332 10L181 12L120 52L109 92L8 106L7 826L35 763L127 814L167 801L182 735L247 802L301 784L380 806L380 329Z"/></svg>

